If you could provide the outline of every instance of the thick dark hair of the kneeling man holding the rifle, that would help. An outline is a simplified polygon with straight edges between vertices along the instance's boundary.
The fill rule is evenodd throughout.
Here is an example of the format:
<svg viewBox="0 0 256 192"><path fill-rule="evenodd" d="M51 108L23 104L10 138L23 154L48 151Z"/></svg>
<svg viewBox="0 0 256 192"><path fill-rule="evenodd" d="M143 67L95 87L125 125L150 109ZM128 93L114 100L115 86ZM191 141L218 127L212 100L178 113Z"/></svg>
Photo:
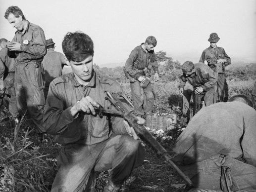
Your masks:
<svg viewBox="0 0 256 192"><path fill-rule="evenodd" d="M81 31L68 32L62 41L62 50L68 61L80 62L94 56L94 43Z"/></svg>

